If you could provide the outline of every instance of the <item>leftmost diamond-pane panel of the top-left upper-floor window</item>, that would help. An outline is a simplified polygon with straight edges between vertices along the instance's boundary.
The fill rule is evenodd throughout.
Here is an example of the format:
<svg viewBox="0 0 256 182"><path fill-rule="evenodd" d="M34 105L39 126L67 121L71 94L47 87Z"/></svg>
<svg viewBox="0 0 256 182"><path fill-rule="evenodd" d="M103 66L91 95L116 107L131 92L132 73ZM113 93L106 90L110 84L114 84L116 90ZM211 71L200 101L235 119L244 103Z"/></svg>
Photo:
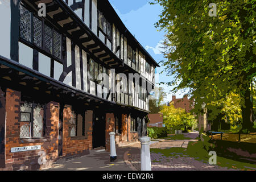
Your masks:
<svg viewBox="0 0 256 182"><path fill-rule="evenodd" d="M31 42L31 13L20 6L20 38Z"/></svg>

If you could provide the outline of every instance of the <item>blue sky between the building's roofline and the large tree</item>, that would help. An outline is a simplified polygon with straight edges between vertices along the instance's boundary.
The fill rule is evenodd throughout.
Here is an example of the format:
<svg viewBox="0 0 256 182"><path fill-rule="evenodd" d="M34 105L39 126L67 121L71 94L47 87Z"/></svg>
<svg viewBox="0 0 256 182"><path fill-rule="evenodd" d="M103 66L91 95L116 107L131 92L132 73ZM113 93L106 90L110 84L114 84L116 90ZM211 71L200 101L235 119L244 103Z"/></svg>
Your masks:
<svg viewBox="0 0 256 182"><path fill-rule="evenodd" d="M159 20L159 15L162 11L160 5L150 5L153 0L109 0L114 7L118 16L125 24L126 28L135 35L139 43L150 53L150 55L159 63L163 60L161 53L160 42L164 39L164 32L158 31L154 26ZM161 66L161 65L160 65ZM163 66L156 69L157 73L163 71ZM166 73L159 75L159 82L170 81L172 77L166 76ZM167 85L160 85L167 93L165 102L171 101L172 95L170 93L171 87ZM177 98L182 98L183 92L176 93Z"/></svg>

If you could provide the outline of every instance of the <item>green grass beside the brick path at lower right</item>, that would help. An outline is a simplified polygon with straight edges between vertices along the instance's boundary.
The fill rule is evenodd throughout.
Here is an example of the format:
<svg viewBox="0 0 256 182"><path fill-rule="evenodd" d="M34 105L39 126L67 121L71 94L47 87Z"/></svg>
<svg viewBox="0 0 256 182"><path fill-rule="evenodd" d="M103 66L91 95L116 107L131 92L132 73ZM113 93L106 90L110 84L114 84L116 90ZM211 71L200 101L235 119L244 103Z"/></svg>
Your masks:
<svg viewBox="0 0 256 182"><path fill-rule="evenodd" d="M208 152L204 150L203 143L201 141L199 142L189 142L188 148L168 148L168 149L158 149L158 148L150 148L151 152L154 152L156 154L161 153L164 156L176 156L177 158L179 156L188 156L192 157L195 160L203 161L204 163L208 164L208 160L210 156L208 155ZM179 156L177 156L179 155ZM222 158L220 156L217 156L217 165L220 167L227 167L227 168L234 168L234 169L241 169L241 170L254 170L256 169L255 164L250 163L243 163L238 162L236 160L232 159L226 159ZM253 168L253 169L251 169Z"/></svg>

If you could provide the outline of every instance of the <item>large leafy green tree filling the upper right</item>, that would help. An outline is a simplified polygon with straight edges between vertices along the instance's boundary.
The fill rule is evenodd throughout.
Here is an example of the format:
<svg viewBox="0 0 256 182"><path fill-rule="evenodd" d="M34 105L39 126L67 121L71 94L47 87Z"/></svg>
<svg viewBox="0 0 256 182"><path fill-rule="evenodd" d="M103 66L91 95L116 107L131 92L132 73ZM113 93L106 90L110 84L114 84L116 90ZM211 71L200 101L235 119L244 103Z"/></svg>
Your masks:
<svg viewBox="0 0 256 182"><path fill-rule="evenodd" d="M166 31L162 61L173 91L188 88L201 103L241 97L243 131L253 126L250 84L255 77L254 1L216 0L217 16L209 16L208 0L155 0L163 7L156 27ZM208 106L207 105L207 106Z"/></svg>

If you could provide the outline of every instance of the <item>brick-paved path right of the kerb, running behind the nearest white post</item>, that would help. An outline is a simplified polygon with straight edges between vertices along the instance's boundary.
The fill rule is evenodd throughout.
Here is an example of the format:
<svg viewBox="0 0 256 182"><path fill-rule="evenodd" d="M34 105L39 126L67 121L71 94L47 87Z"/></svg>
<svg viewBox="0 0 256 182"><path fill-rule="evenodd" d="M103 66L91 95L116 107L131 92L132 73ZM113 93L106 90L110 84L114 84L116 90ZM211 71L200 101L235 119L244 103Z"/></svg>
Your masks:
<svg viewBox="0 0 256 182"><path fill-rule="evenodd" d="M191 138L187 140L159 140L159 142L151 143L150 148L171 148L182 147L187 148L189 142L198 141L196 138L199 136L198 132L184 133L184 137ZM125 145L124 145L125 146ZM126 163L130 165L133 170L141 170L141 154L140 143L129 144L133 147L133 151L126 152L123 158ZM135 151L135 148L138 148ZM198 161L189 156L175 156L166 157L163 154L151 153L151 168L152 171L233 171L235 169L228 169L219 167L217 165L209 165L203 161Z"/></svg>

